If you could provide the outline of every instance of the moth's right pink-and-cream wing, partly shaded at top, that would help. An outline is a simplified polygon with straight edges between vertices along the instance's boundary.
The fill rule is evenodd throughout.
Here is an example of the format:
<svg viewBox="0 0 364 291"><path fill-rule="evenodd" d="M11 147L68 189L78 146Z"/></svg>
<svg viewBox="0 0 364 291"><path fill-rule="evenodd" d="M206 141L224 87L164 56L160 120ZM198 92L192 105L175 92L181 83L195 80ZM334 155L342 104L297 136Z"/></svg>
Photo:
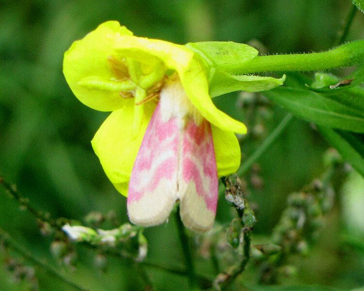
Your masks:
<svg viewBox="0 0 364 291"><path fill-rule="evenodd" d="M211 229L215 220L218 179L210 123L186 124L182 137L178 173L180 215L183 224L194 231Z"/></svg>

